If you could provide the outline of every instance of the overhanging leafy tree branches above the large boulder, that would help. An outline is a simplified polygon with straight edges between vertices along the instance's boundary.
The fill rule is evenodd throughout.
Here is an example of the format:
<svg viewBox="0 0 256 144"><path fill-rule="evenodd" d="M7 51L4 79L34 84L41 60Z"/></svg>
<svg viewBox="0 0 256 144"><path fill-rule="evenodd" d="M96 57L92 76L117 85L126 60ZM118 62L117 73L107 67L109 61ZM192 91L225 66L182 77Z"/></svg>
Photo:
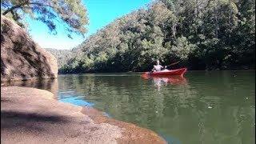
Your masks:
<svg viewBox="0 0 256 144"><path fill-rule="evenodd" d="M26 25L26 16L41 21L50 31L57 22L65 22L65 30L71 34L85 34L88 18L81 0L1 0L1 14L14 19L20 26ZM56 31L55 31L56 33Z"/></svg>

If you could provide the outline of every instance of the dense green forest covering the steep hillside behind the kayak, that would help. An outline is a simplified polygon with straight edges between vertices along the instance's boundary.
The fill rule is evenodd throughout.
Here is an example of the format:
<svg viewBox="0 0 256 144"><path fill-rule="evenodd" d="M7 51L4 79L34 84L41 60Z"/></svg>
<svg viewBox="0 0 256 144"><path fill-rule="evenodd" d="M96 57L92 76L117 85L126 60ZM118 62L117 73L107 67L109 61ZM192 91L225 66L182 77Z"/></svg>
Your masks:
<svg viewBox="0 0 256 144"><path fill-rule="evenodd" d="M60 73L254 69L254 0L158 0L116 19L74 48ZM63 64L65 63L65 64Z"/></svg>

